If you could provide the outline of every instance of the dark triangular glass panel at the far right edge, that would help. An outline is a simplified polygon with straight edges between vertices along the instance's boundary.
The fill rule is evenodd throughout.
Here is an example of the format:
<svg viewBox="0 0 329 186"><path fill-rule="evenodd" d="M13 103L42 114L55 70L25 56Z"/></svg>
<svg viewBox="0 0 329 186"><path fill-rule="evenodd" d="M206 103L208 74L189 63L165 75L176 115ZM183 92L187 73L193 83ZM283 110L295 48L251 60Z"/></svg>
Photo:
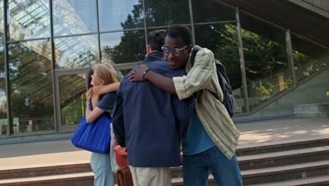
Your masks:
<svg viewBox="0 0 329 186"><path fill-rule="evenodd" d="M328 66L329 50L321 46L307 42L307 40L291 35L292 37L292 56L295 63L296 80L302 80L305 77L316 73L321 68Z"/></svg>

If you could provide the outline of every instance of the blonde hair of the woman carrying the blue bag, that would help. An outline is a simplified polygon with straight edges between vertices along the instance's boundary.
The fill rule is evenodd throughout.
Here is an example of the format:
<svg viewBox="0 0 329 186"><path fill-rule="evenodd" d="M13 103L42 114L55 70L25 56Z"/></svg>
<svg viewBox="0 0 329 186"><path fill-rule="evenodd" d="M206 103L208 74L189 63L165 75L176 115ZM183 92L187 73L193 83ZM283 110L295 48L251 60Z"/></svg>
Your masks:
<svg viewBox="0 0 329 186"><path fill-rule="evenodd" d="M115 69L110 64L101 63L93 66L93 73L98 75L98 78L103 81L104 85L117 82Z"/></svg>

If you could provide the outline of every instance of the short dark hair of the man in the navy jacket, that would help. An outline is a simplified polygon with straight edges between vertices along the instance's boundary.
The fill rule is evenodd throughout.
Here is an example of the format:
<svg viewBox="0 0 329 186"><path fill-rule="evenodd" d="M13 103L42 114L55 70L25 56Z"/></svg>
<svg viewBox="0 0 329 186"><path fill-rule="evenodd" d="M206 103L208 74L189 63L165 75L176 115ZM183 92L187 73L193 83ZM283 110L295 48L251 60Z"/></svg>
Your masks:
<svg viewBox="0 0 329 186"><path fill-rule="evenodd" d="M152 51L162 51L166 30L153 30L148 34L148 45Z"/></svg>

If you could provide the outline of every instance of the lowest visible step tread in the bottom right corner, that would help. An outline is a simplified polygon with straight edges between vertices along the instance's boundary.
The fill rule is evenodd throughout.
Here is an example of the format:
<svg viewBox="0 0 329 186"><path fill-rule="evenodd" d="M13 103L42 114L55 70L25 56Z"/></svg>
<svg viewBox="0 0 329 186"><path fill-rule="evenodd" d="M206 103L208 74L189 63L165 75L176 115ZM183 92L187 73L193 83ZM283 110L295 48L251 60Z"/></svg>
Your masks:
<svg viewBox="0 0 329 186"><path fill-rule="evenodd" d="M289 180L283 182L274 182L274 183L262 183L257 185L248 185L248 186L328 186L329 185L329 176L316 176L313 178L304 178L300 180Z"/></svg>

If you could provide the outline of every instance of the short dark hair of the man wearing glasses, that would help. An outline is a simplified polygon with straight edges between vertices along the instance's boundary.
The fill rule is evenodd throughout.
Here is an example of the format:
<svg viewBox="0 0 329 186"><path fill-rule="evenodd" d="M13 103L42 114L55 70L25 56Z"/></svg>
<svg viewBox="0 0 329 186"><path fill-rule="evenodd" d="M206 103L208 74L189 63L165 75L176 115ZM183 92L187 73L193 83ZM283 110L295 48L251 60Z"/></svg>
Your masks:
<svg viewBox="0 0 329 186"><path fill-rule="evenodd" d="M172 25L168 27L166 36L176 39L181 38L186 45L192 44L192 32L188 27L183 25Z"/></svg>

